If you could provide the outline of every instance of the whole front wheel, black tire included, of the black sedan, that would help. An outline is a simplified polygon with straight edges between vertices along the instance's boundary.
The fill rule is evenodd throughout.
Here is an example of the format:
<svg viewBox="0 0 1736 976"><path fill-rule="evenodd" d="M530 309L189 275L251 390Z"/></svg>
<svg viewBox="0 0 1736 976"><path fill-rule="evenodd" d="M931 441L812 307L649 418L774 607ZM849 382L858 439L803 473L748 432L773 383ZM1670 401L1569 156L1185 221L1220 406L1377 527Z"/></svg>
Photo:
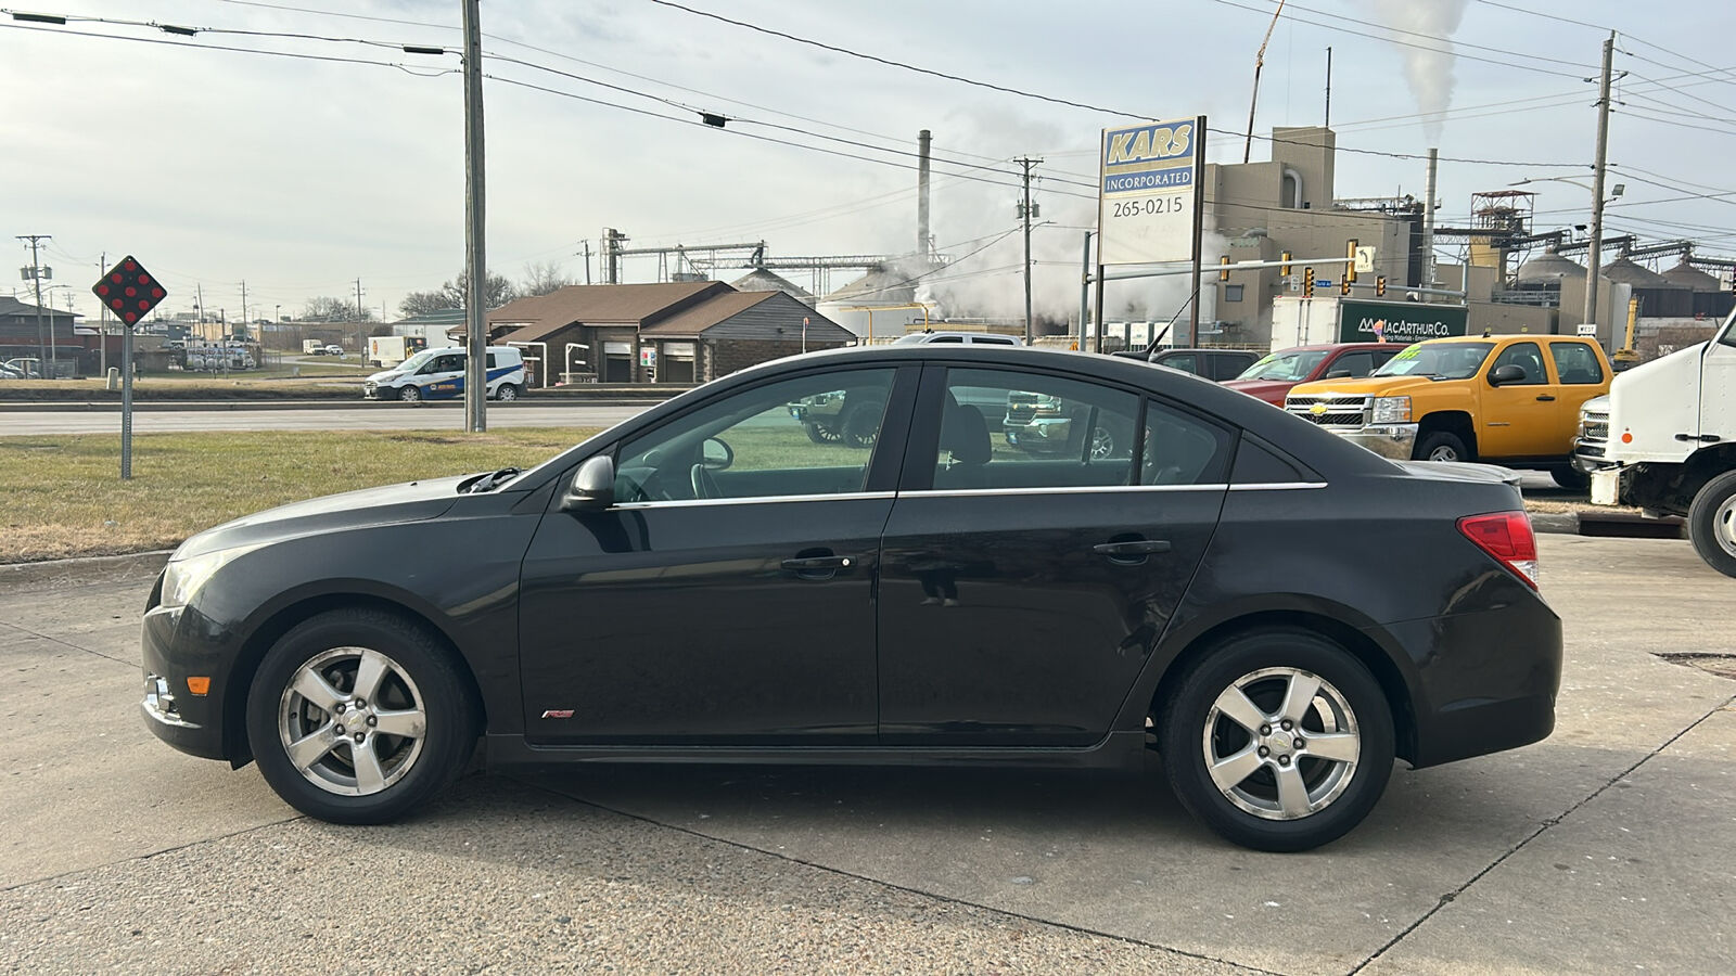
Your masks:
<svg viewBox="0 0 1736 976"><path fill-rule="evenodd" d="M375 700L358 703L354 684L370 651L378 655L373 662L384 660L375 667L384 677ZM307 681L304 669L342 696L318 707L293 691L297 679ZM332 823L385 823L464 771L479 712L469 676L429 630L380 610L333 610L304 620L266 651L248 689L247 736L266 783L295 809ZM417 714L420 736L382 731L387 724L410 729ZM356 735L375 759L377 780L365 783ZM306 766L290 757L290 742L311 743Z"/></svg>

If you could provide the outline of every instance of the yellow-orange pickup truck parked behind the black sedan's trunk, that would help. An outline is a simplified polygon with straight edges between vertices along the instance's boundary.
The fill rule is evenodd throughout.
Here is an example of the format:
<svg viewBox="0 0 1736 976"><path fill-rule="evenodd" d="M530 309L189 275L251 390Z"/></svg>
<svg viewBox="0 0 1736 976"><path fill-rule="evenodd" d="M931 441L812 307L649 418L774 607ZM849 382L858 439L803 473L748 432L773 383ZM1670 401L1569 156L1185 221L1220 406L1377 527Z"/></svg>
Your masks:
<svg viewBox="0 0 1736 976"><path fill-rule="evenodd" d="M1364 379L1300 384L1285 410L1396 460L1481 460L1573 469L1580 405L1609 392L1609 359L1594 339L1486 335L1404 347Z"/></svg>

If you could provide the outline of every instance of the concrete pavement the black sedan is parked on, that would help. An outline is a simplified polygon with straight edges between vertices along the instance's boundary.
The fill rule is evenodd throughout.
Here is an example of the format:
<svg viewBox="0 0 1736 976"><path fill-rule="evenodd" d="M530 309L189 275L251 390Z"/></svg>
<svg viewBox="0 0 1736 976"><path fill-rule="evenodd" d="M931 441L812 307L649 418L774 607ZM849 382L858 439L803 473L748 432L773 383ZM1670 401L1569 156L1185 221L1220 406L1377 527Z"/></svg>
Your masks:
<svg viewBox="0 0 1736 976"><path fill-rule="evenodd" d="M1736 683L1658 655L1733 653L1733 582L1686 542L1542 563L1554 736L1399 769L1290 856L1154 769L479 773L332 827L142 728L155 564L0 568L0 967L1729 973Z"/></svg>

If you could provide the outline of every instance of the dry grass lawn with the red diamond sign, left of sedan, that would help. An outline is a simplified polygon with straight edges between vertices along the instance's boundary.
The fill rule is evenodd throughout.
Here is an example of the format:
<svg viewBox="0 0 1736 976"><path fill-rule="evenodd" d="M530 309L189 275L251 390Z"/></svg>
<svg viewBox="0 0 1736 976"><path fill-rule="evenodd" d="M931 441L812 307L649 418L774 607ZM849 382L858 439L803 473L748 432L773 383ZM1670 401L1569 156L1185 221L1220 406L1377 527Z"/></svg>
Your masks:
<svg viewBox="0 0 1736 976"><path fill-rule="evenodd" d="M203 528L318 495L529 467L595 434L535 427L0 438L0 563L170 549Z"/></svg>

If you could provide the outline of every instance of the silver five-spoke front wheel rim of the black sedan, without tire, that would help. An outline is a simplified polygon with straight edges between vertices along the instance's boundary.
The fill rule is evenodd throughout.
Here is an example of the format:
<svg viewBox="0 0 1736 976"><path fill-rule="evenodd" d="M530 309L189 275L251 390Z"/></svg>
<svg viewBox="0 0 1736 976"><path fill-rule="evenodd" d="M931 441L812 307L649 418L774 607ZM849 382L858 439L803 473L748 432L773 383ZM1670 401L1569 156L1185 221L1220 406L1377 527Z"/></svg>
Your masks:
<svg viewBox="0 0 1736 976"><path fill-rule="evenodd" d="M290 764L321 790L365 797L415 768L427 738L422 691L391 656L332 648L295 669L278 702Z"/></svg>

